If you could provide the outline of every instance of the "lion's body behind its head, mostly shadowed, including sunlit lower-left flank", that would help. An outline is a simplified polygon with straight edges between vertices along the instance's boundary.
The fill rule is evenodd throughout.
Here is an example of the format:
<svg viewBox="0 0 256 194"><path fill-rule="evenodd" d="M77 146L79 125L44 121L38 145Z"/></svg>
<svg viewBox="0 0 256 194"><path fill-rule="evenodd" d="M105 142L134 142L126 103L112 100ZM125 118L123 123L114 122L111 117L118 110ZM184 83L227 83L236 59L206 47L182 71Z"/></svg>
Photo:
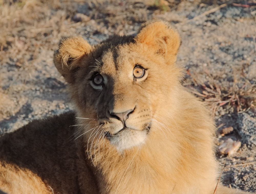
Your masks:
<svg viewBox="0 0 256 194"><path fill-rule="evenodd" d="M0 189L7 193L80 193L77 163L82 157L73 139L75 128L69 127L73 124L74 114L66 113L33 121L1 137ZM83 163L84 178L90 180L84 193L97 193L91 170Z"/></svg>

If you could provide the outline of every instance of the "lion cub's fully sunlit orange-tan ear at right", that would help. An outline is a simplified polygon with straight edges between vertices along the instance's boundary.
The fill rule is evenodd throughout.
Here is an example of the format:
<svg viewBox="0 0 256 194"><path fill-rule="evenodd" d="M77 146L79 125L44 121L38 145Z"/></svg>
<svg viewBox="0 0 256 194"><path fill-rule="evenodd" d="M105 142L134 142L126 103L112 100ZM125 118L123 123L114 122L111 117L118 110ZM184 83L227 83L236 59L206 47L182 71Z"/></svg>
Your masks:
<svg viewBox="0 0 256 194"><path fill-rule="evenodd" d="M176 56L181 44L176 28L162 20L142 24L134 40L148 45L156 54L168 56Z"/></svg>

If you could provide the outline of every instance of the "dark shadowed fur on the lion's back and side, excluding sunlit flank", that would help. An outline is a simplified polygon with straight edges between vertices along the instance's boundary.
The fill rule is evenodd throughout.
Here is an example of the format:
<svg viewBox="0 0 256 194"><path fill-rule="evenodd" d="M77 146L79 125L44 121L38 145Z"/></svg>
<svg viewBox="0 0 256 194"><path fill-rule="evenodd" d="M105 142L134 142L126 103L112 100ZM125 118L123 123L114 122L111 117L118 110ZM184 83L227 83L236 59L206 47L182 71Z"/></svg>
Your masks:
<svg viewBox="0 0 256 194"><path fill-rule="evenodd" d="M81 193L79 173L84 173L85 182L95 179L84 153L77 155L82 153L82 146L76 144L81 139L74 141L76 128L72 125L75 125L75 115L69 112L32 121L12 133L4 134L0 138L0 163L32 171L50 184L54 193ZM81 166L85 168L82 171L78 169ZM97 183L91 184L93 182L85 193L99 193Z"/></svg>

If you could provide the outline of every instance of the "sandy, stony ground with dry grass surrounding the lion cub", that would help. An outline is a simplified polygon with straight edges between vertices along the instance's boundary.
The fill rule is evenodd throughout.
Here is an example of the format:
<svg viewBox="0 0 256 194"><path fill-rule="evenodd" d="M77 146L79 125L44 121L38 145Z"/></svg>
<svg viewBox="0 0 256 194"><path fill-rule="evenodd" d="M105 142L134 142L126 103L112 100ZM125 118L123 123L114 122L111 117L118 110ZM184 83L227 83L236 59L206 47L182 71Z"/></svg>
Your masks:
<svg viewBox="0 0 256 194"><path fill-rule="evenodd" d="M72 110L52 61L61 37L82 36L95 44L164 19L183 37L177 60L186 71L183 84L209 105L216 144L241 142L233 155L217 153L222 181L256 192L255 18L255 1L0 0L0 135ZM233 131L223 134L230 126Z"/></svg>

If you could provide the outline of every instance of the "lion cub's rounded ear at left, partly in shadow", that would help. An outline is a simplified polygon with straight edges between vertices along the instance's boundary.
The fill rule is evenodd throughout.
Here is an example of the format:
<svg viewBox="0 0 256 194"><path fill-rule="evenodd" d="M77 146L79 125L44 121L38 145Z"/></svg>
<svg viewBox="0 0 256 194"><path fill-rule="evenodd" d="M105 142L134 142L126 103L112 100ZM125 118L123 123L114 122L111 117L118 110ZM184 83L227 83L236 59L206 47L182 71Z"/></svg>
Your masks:
<svg viewBox="0 0 256 194"><path fill-rule="evenodd" d="M54 52L54 64L68 83L72 83L74 71L79 68L81 57L91 52L91 45L82 37L68 37L60 40L59 49Z"/></svg>

